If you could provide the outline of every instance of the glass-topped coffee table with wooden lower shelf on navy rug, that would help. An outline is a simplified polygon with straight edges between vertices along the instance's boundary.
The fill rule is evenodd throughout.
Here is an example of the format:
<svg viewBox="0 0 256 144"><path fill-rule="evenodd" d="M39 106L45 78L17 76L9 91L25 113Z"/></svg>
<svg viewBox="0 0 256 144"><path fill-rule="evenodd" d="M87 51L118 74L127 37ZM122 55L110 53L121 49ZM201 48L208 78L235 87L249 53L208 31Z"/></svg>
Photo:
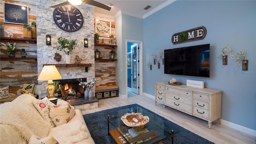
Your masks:
<svg viewBox="0 0 256 144"><path fill-rule="evenodd" d="M148 116L149 122L138 127L127 126L121 117L132 112ZM170 138L173 144L174 135L180 132L177 126L172 126L170 122L140 106L118 110L107 114L105 117L108 119L108 134L117 144L162 144L162 141ZM110 124L114 127L113 130L110 130Z"/></svg>

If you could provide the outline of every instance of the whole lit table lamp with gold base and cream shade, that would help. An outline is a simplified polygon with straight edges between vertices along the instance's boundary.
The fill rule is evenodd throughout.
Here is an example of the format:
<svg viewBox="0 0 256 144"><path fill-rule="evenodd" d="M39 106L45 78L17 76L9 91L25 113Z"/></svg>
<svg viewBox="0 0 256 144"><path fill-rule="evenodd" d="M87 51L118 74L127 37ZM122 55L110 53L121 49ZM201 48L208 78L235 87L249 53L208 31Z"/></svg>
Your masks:
<svg viewBox="0 0 256 144"><path fill-rule="evenodd" d="M37 80L47 81L46 91L48 98L54 98L55 86L52 80L60 80L62 77L54 65L44 66Z"/></svg>

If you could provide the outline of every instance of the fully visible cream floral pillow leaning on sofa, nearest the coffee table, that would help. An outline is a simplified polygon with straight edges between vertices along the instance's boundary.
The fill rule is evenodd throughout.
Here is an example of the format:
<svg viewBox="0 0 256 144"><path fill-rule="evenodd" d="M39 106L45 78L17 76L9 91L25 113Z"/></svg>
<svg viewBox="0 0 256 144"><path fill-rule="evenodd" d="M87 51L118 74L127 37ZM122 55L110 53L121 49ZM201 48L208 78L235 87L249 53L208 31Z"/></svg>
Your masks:
<svg viewBox="0 0 256 144"><path fill-rule="evenodd" d="M50 104L50 117L56 126L66 124L75 114L75 108L64 100L58 99L56 105Z"/></svg>

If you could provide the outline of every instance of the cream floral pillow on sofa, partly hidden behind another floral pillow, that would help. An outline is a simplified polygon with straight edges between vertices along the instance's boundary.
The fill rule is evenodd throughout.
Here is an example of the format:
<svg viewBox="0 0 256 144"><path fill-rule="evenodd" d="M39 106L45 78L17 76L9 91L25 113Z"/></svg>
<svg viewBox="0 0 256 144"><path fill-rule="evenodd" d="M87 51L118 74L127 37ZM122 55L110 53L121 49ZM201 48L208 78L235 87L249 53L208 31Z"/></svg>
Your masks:
<svg viewBox="0 0 256 144"><path fill-rule="evenodd" d="M49 122L52 128L55 127L54 122L50 118L50 104L54 105L47 97L44 97L42 100L32 100L36 110L41 114L41 116Z"/></svg>

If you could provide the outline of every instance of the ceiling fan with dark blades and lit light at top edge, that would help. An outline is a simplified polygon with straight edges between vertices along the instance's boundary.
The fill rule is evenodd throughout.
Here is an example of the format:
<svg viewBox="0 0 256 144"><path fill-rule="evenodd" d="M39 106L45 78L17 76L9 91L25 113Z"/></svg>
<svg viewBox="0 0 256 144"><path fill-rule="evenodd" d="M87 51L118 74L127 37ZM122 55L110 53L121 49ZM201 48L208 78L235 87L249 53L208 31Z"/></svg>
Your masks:
<svg viewBox="0 0 256 144"><path fill-rule="evenodd" d="M66 2L62 2L60 4L54 5L54 6L50 6L50 8L58 8L58 7L62 7L62 6L66 6L69 4L74 4L74 5L79 5L79 4L90 4L92 6L97 6L99 8L103 8L105 10L110 11L111 7L107 6L105 4L102 4L100 2L96 2L95 0L67 0Z"/></svg>

